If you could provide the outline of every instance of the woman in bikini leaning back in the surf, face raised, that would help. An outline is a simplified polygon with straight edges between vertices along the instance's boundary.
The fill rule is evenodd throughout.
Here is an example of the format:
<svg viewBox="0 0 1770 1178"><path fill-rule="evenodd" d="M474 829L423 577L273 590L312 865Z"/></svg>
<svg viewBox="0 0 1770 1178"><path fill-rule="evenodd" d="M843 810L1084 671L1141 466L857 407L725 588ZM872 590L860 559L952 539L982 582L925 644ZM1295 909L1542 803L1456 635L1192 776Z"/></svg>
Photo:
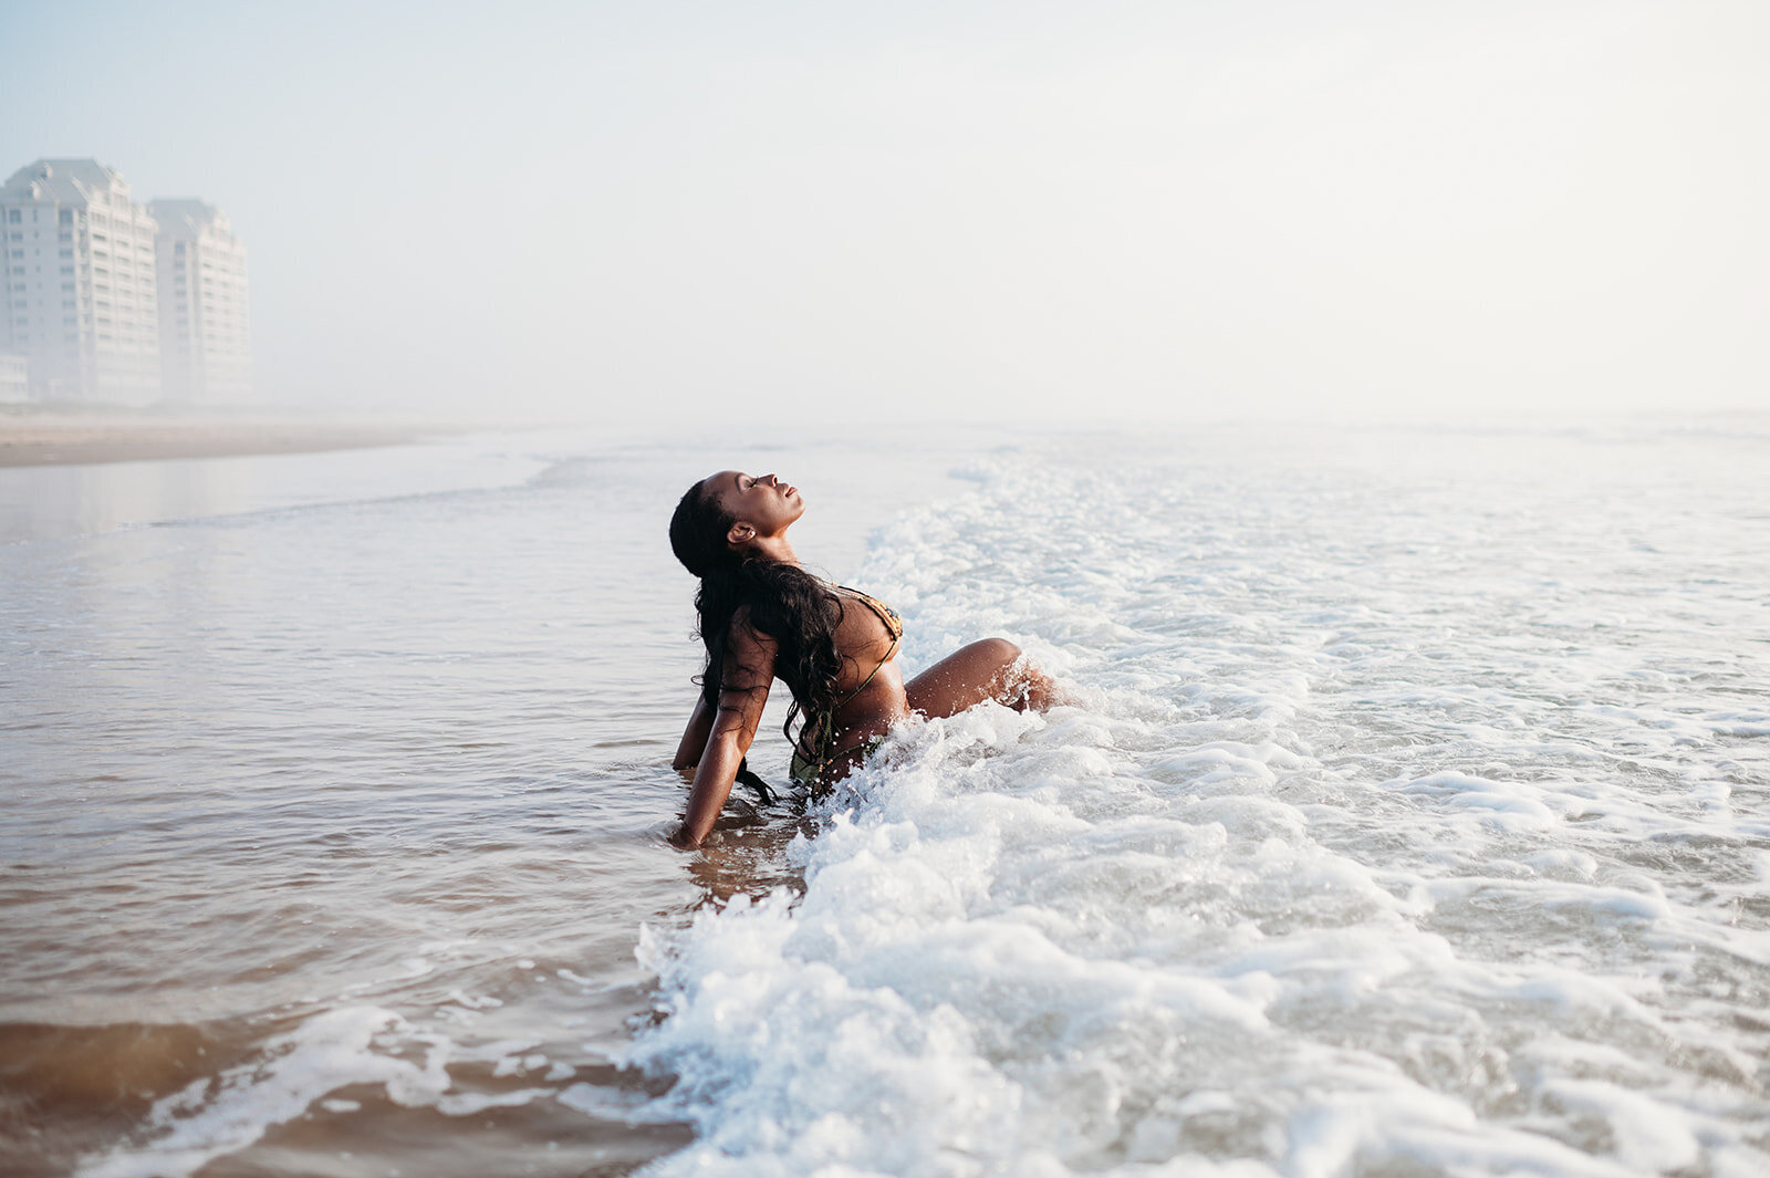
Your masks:
<svg viewBox="0 0 1770 1178"><path fill-rule="evenodd" d="M793 692L789 738L804 716L793 780L812 792L860 764L912 711L952 716L986 699L1043 711L1055 702L1050 677L1004 639L972 642L904 683L897 614L800 566L786 532L804 513L798 488L773 474L720 470L690 486L671 516L671 548L701 578L694 607L706 644L701 699L676 748L676 769L694 769L676 845L699 847L713 830L775 679Z"/></svg>

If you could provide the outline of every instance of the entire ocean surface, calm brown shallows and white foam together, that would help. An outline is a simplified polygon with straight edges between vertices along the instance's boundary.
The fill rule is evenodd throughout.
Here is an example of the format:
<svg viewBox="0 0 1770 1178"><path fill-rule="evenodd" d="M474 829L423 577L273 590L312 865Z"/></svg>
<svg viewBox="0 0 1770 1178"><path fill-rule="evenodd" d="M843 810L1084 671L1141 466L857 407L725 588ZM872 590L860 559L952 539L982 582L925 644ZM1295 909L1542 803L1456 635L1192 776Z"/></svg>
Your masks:
<svg viewBox="0 0 1770 1178"><path fill-rule="evenodd" d="M7 1173L1770 1171L1763 421L211 462L0 472ZM722 465L1073 704L669 849Z"/></svg>

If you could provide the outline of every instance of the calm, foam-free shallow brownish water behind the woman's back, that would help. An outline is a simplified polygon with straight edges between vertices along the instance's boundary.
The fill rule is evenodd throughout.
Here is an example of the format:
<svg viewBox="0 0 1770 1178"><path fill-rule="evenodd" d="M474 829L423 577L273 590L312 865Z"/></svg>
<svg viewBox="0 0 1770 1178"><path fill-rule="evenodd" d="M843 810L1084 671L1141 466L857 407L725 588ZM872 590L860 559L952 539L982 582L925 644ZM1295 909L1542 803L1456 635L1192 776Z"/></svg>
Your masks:
<svg viewBox="0 0 1770 1178"><path fill-rule="evenodd" d="M657 833L696 670L664 522L735 460L772 462L527 435L0 472L0 1171L687 1141L595 1102L646 1090L609 1065L641 922L727 886ZM850 571L894 509L867 479L952 462L798 456L809 541Z"/></svg>

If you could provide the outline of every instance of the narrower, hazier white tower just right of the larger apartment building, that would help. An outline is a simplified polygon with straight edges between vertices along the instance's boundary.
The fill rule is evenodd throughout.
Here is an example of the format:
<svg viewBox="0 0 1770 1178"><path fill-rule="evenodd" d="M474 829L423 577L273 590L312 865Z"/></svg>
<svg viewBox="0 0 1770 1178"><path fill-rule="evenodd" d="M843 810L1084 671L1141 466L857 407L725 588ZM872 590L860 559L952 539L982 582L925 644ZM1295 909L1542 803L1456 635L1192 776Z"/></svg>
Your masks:
<svg viewBox="0 0 1770 1178"><path fill-rule="evenodd" d="M161 387L170 402L251 400L246 248L200 200L154 200Z"/></svg>

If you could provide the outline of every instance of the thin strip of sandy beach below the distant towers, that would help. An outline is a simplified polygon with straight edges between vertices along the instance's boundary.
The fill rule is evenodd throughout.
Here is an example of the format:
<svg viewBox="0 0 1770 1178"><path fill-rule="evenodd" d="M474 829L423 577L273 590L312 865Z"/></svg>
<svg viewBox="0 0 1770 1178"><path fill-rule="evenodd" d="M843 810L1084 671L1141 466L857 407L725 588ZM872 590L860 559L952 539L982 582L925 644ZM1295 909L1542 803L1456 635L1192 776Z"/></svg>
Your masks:
<svg viewBox="0 0 1770 1178"><path fill-rule="evenodd" d="M400 446L455 428L409 421L0 414L0 467L304 455Z"/></svg>

